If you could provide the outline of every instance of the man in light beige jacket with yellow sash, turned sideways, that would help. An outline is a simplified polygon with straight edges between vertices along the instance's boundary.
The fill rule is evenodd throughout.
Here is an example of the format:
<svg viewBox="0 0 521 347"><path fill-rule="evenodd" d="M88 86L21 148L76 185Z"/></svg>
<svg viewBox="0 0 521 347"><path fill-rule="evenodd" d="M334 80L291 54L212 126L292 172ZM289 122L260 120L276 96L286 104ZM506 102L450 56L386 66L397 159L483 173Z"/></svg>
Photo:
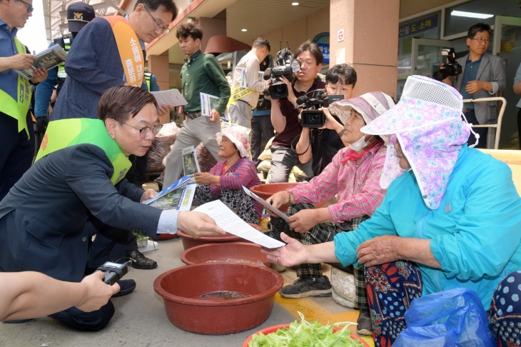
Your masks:
<svg viewBox="0 0 521 347"><path fill-rule="evenodd" d="M251 129L251 110L257 106L258 96L264 82L258 72L260 61L270 52L270 42L259 37L253 42L251 51L243 56L233 71L231 97L228 103L231 122Z"/></svg>

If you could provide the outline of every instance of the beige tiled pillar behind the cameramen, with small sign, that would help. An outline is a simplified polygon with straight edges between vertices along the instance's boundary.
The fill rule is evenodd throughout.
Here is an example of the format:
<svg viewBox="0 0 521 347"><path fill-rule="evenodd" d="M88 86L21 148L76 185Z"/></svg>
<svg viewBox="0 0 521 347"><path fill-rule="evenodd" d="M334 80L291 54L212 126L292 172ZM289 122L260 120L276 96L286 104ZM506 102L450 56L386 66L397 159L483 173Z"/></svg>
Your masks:
<svg viewBox="0 0 521 347"><path fill-rule="evenodd" d="M399 19L400 0L330 1L330 66L353 64L355 96L383 91L396 97Z"/></svg>

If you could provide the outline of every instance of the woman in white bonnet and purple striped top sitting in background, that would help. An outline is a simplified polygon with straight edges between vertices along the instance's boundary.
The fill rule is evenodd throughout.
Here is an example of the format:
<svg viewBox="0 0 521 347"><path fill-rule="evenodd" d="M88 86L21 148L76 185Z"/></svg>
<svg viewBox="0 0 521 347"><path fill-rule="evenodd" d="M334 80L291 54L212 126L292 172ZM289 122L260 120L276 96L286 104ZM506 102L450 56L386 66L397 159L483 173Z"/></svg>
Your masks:
<svg viewBox="0 0 521 347"><path fill-rule="evenodd" d="M234 125L217 134L218 156L225 159L213 166L210 172L196 173L202 186L196 189L195 198L207 202L220 198L223 203L246 223L258 224L262 206L243 191L260 184L257 170L250 160L250 129Z"/></svg>

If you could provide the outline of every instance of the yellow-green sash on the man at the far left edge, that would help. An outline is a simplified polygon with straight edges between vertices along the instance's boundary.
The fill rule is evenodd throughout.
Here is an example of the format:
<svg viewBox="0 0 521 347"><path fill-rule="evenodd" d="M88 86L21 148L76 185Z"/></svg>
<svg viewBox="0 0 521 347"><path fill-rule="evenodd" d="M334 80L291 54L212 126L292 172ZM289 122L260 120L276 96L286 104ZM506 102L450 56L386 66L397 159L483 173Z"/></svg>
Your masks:
<svg viewBox="0 0 521 347"><path fill-rule="evenodd" d="M19 53L26 54L26 49L23 44L20 43L16 37L14 38L16 44L16 50ZM29 129L27 128L27 111L29 111L29 104L31 103L31 85L29 81L24 79L21 75L18 75L18 81L16 82L16 99L13 99L9 94L0 89L0 111L4 114L13 117L18 121L18 132L25 129L27 137L29 137Z"/></svg>

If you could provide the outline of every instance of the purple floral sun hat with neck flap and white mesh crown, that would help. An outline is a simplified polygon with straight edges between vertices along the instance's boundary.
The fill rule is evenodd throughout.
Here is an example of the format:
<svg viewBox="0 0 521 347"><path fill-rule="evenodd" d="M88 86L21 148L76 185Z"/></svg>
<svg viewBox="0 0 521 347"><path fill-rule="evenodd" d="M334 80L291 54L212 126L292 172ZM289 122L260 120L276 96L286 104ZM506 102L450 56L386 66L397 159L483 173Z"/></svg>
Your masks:
<svg viewBox="0 0 521 347"><path fill-rule="evenodd" d="M462 96L451 86L424 76L409 76L398 104L361 129L365 134L389 136L380 186L388 188L408 171L398 164L394 148L398 139L423 201L428 208L440 207L461 146L472 131L461 119L462 107Z"/></svg>

